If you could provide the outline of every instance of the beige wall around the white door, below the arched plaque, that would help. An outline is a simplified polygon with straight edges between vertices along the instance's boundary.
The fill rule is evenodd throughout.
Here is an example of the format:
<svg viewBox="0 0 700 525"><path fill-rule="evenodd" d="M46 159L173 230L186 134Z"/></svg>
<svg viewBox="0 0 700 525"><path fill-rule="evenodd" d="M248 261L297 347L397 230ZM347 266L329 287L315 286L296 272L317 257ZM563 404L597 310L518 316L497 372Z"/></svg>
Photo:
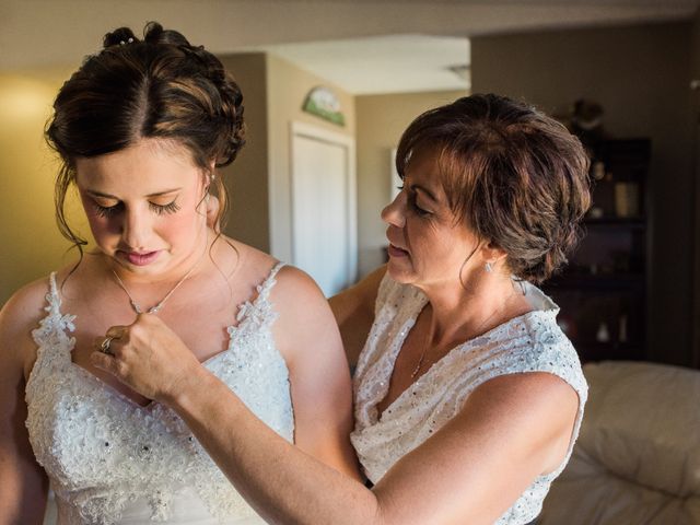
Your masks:
<svg viewBox="0 0 700 525"><path fill-rule="evenodd" d="M330 88L340 102L345 126L338 126L302 110L308 92L318 85ZM270 253L292 260L291 209L291 124L306 122L354 138L354 97L324 79L273 55L267 56L268 171L270 210Z"/></svg>

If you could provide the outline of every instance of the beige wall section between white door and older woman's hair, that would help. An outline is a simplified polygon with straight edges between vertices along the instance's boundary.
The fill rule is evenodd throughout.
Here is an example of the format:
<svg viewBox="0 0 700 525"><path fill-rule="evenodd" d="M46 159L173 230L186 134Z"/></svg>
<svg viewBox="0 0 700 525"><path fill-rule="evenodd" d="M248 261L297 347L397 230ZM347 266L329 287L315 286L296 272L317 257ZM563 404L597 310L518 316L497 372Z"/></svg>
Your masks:
<svg viewBox="0 0 700 525"><path fill-rule="evenodd" d="M365 95L355 98L358 120L358 250L359 273L384 262L386 225L380 212L390 198L390 151L418 115L467 93Z"/></svg>

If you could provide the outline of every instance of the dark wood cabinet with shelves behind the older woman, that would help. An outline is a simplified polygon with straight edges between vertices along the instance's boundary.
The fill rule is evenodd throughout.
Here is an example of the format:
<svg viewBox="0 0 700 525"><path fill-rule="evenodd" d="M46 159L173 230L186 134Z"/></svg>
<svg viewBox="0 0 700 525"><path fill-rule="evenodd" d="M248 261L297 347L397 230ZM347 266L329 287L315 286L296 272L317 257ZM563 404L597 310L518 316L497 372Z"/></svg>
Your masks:
<svg viewBox="0 0 700 525"><path fill-rule="evenodd" d="M582 361L646 359L649 139L590 148L593 206L570 264L542 287Z"/></svg>

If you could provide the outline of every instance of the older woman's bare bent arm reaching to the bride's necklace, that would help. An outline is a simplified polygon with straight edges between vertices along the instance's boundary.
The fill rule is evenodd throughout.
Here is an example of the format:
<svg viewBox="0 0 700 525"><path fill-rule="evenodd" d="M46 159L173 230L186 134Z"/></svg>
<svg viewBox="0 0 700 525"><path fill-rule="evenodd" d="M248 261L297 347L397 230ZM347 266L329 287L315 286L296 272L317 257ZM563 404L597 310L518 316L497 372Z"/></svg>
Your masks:
<svg viewBox="0 0 700 525"><path fill-rule="evenodd" d="M492 524L562 460L579 402L546 373L488 381L369 490L267 428L154 316L122 337L93 363L176 410L269 523Z"/></svg>

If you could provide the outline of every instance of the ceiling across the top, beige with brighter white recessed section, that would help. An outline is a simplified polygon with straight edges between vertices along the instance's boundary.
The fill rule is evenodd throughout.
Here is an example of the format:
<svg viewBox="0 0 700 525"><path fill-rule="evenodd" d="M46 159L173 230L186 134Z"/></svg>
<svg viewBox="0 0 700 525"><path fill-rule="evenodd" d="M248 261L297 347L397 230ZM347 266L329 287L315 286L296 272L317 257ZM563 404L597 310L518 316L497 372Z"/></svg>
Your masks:
<svg viewBox="0 0 700 525"><path fill-rule="evenodd" d="M691 20L700 0L0 0L0 73L73 69L155 20L219 54L266 49L357 94L452 90L475 35ZM468 73L468 71L466 71Z"/></svg>

